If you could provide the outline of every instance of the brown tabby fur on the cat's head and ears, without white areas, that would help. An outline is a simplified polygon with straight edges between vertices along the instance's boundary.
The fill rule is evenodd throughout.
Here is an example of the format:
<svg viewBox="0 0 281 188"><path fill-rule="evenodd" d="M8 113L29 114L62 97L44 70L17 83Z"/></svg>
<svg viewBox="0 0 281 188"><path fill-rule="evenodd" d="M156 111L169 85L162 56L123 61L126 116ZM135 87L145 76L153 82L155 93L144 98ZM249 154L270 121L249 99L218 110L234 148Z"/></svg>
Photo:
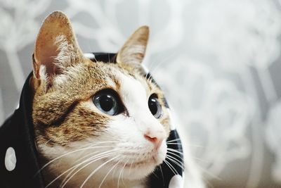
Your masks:
<svg viewBox="0 0 281 188"><path fill-rule="evenodd" d="M135 36L140 37L136 39ZM110 88L119 94L122 82L117 75L123 74L140 81L146 88L147 96L157 94L164 106L161 89L140 71L147 41L148 27L144 26L124 44L118 53L117 63L93 63L83 56L70 20L63 13L54 12L46 18L35 44L34 77L30 82L34 90L32 119L35 142L42 166L48 162L42 154L46 153L44 146L67 149L73 142L106 132L112 116L93 110L88 104L102 89ZM132 46L136 46L135 51L132 51ZM169 133L166 108L163 111L159 121ZM126 106L124 115L130 115Z"/></svg>

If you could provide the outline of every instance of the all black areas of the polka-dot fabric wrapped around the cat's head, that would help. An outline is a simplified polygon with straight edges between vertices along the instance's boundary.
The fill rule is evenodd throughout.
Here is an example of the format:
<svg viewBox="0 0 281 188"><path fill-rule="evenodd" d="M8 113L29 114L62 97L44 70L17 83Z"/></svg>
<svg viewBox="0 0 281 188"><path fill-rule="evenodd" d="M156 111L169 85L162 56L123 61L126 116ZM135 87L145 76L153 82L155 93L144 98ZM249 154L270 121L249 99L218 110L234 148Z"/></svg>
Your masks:
<svg viewBox="0 0 281 188"><path fill-rule="evenodd" d="M92 61L103 61L105 63L115 63L116 54L93 53L95 59ZM34 129L32 125L32 92L30 88L30 77L27 77L20 96L20 106L0 127L0 188L14 187L44 187L44 179L39 173L39 163L37 161L37 150L34 144ZM166 104L168 107L168 104ZM155 173L150 175L150 187L169 187L171 178L175 175L182 175L183 171L179 163L183 163L181 155L181 140L176 130L171 130L169 141L177 144L168 144L170 149L175 149L173 157L175 161L166 158L172 166L163 163L161 169L158 167ZM173 143L174 143L173 142ZM15 169L11 172L6 170L5 156L6 150L13 147L16 156ZM178 163L178 164L176 164ZM174 170L171 170L174 169Z"/></svg>

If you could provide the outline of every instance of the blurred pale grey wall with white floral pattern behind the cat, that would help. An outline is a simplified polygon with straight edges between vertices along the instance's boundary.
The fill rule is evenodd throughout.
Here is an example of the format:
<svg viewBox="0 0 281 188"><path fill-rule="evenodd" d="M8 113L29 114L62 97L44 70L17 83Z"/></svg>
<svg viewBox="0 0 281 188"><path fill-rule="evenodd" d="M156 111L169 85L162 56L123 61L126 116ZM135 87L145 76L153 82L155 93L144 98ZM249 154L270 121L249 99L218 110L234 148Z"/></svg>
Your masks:
<svg viewBox="0 0 281 188"><path fill-rule="evenodd" d="M116 52L149 25L144 63L208 186L281 187L280 0L0 0L0 125L55 10L70 17L84 52Z"/></svg>

